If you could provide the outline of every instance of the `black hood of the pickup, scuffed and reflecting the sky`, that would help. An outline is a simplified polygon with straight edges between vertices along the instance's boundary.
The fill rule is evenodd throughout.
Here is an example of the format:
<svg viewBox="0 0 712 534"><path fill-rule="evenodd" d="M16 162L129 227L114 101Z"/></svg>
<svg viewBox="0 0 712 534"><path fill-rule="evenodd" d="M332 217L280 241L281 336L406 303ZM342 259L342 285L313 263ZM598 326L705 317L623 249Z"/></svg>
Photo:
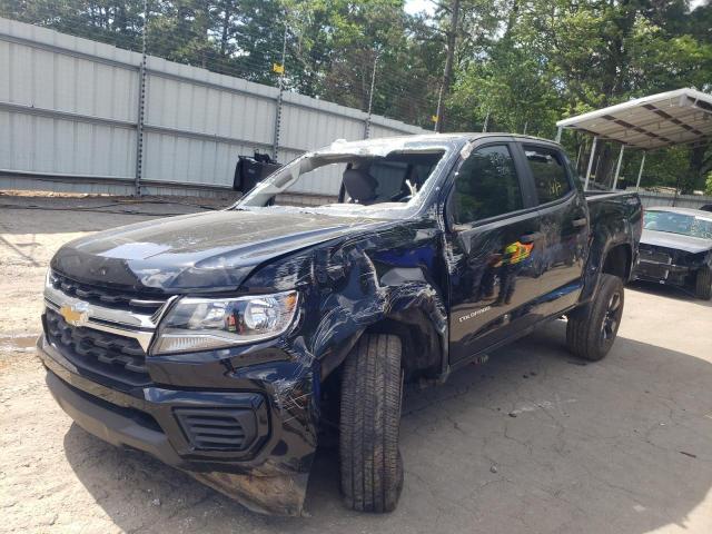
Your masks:
<svg viewBox="0 0 712 534"><path fill-rule="evenodd" d="M301 211L210 211L76 239L51 266L78 281L123 289L231 290L267 260L383 224Z"/></svg>

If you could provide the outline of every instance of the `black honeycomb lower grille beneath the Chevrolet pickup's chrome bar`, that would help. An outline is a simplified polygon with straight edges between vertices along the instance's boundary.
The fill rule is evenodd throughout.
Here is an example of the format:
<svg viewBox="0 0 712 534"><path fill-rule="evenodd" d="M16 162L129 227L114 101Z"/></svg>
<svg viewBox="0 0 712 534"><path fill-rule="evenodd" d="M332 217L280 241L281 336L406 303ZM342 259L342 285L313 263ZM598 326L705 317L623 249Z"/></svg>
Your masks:
<svg viewBox="0 0 712 534"><path fill-rule="evenodd" d="M131 386L150 382L146 353L136 339L71 326L49 308L46 320L49 342L77 367Z"/></svg>

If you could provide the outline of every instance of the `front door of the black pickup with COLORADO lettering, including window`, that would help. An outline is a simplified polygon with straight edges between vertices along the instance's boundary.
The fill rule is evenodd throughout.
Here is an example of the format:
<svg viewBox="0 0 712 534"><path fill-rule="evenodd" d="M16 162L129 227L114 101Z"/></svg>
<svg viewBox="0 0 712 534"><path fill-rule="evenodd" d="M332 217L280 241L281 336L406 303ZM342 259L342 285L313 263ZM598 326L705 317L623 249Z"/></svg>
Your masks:
<svg viewBox="0 0 712 534"><path fill-rule="evenodd" d="M540 295L532 253L541 221L511 138L487 138L459 164L446 204L451 363L526 326Z"/></svg>

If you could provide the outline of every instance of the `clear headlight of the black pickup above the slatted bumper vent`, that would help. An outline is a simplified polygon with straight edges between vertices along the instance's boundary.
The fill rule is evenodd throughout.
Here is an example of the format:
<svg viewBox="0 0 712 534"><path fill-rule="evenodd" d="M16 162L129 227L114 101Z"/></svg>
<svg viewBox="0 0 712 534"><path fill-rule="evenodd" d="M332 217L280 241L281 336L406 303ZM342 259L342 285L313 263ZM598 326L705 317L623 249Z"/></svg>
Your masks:
<svg viewBox="0 0 712 534"><path fill-rule="evenodd" d="M184 297L158 328L152 354L211 350L269 339L294 320L297 291L238 298Z"/></svg>

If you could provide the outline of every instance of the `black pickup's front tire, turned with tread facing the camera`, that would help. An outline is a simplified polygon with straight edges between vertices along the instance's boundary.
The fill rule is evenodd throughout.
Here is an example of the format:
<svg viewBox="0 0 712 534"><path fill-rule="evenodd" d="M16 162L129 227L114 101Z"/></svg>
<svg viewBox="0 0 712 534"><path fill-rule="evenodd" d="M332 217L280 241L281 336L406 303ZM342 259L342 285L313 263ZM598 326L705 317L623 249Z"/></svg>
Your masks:
<svg viewBox="0 0 712 534"><path fill-rule="evenodd" d="M342 492L346 506L356 511L392 512L403 490L400 352L397 336L364 334L344 363Z"/></svg>

